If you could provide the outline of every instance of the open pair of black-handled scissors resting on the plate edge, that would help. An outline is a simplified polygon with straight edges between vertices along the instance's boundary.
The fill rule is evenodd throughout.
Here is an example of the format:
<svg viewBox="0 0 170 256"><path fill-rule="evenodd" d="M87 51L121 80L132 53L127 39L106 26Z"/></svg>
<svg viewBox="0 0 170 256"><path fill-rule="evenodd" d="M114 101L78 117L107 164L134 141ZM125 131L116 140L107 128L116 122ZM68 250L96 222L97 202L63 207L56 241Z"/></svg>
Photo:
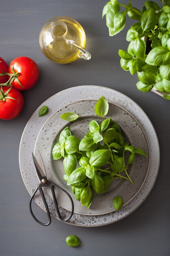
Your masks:
<svg viewBox="0 0 170 256"><path fill-rule="evenodd" d="M33 155L33 153L32 153ZM74 204L73 204L73 199L71 198L71 195L69 195L69 193L62 189L60 186L56 185L55 183L53 182L50 182L47 180L46 178L46 171L45 171L45 166L44 166L44 163L43 163L43 160L42 160L42 156L40 154L40 151L38 151L38 155L39 155L39 162L40 164L38 164L38 161L37 159L35 158L35 156L33 155L33 162L34 162L34 165L35 165L35 170L37 172L37 175L40 179L40 185L37 187L37 189L35 189L33 195L31 196L31 199L30 199L30 202L29 202L29 210L30 210L30 213L31 215L33 216L34 220L36 222L38 222L40 225L42 226L48 226L50 225L51 223L51 215L50 215L50 211L49 211L49 207L47 205L47 202L46 202L46 199L44 197L44 192L42 190L42 188L44 187L47 187L49 186L50 189L51 189L51 193L53 195L53 201L54 201L54 205L55 205L55 209L57 211L57 214L58 214L58 218L62 221L68 221L70 220L70 218L73 216L73 211L74 211ZM62 216L60 215L60 211L59 211L59 208L58 208L58 204L57 204L57 199L56 199L56 196L55 196L55 191L54 191L54 187L57 187L58 189L62 190L64 193L66 193L66 195L68 195L70 201L71 201L71 214L70 216L68 216L67 218L62 218ZM42 200L44 202L44 205L45 205L45 208L46 208L46 212L47 212L47 215L48 215L48 219L49 219L49 222L48 223L43 223L43 222L40 222L33 214L33 211L32 211L32 208L31 208L31 203L32 203L32 200L33 200L33 197L35 196L36 192L39 191L41 197L42 197Z"/></svg>

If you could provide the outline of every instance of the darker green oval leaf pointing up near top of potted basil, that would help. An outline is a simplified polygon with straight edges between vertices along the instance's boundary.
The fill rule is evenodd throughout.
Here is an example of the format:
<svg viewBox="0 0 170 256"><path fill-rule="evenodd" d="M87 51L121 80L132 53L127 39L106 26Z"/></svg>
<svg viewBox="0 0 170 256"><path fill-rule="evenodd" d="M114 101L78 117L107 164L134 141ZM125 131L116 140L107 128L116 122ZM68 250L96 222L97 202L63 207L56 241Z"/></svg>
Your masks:
<svg viewBox="0 0 170 256"><path fill-rule="evenodd" d="M157 18L155 11L153 9L149 9L144 11L141 17L141 27L143 31L150 31L157 24Z"/></svg>

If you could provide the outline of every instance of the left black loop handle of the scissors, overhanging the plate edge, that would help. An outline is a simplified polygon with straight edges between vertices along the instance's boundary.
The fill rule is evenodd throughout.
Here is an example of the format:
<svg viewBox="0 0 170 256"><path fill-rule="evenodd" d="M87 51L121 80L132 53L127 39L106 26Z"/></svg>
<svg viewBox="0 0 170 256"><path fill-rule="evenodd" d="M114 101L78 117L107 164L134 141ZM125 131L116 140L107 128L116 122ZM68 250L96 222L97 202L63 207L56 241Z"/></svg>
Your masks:
<svg viewBox="0 0 170 256"><path fill-rule="evenodd" d="M41 184L40 184L40 185L41 185ZM46 203L46 199L45 199L45 197L44 197L44 193L43 193L43 191L42 191L42 187L41 187L40 185L37 187L37 189L35 189L33 195L31 196L31 199L30 199L30 201L29 201L29 211L30 211L32 217L34 218L34 220L35 220L36 222L38 222L38 223L39 223L40 225L42 225L42 226L49 226L50 223L51 223L51 215L50 215L49 207L48 207L48 205L47 205L47 203ZM41 222L40 220L38 220L38 219L35 217L35 215L33 214L33 211L32 211L32 208L31 208L31 203L32 203L33 197L34 197L34 195L36 194L36 192L38 191L38 189L39 189L39 191L40 191L40 195L41 195L41 197L42 197L42 200L43 200L44 205L45 205L45 208L46 208L46 212L47 212L48 219L49 219L49 222L48 222L48 223L43 223L43 222Z"/></svg>

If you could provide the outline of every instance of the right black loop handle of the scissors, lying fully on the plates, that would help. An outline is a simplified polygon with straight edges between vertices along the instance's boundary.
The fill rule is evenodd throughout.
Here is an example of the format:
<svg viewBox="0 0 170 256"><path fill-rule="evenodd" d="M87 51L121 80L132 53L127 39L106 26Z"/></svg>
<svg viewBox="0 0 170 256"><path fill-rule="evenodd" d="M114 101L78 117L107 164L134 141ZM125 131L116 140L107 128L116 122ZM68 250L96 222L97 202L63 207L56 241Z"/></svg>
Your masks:
<svg viewBox="0 0 170 256"><path fill-rule="evenodd" d="M71 198L71 195L65 190L65 189L62 189L60 186L56 185L55 183L51 183L51 192L52 192L52 195L53 195L53 200L54 200L54 204L55 204L55 209L58 213L58 218L62 221L68 221L71 219L71 217L73 216L73 212L74 212L74 203L73 203L73 199ZM64 193L66 193L66 195L68 195L70 201L71 201L71 214L70 216L68 216L67 218L63 219L62 216L60 215L60 211L58 209L58 203L57 203L57 199L56 199L56 196L55 196L55 191L54 191L54 186L57 187L58 189L62 190Z"/></svg>

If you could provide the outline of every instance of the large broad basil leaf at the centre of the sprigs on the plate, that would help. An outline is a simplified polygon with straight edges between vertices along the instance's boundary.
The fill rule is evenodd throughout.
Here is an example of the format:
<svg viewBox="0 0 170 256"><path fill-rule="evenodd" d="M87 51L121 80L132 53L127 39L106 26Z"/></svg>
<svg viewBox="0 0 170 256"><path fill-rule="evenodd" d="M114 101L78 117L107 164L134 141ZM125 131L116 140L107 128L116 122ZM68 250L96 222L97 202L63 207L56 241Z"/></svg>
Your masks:
<svg viewBox="0 0 170 256"><path fill-rule="evenodd" d="M110 155L111 152L109 149L99 149L92 154L89 162L91 166L100 167L108 162Z"/></svg>

